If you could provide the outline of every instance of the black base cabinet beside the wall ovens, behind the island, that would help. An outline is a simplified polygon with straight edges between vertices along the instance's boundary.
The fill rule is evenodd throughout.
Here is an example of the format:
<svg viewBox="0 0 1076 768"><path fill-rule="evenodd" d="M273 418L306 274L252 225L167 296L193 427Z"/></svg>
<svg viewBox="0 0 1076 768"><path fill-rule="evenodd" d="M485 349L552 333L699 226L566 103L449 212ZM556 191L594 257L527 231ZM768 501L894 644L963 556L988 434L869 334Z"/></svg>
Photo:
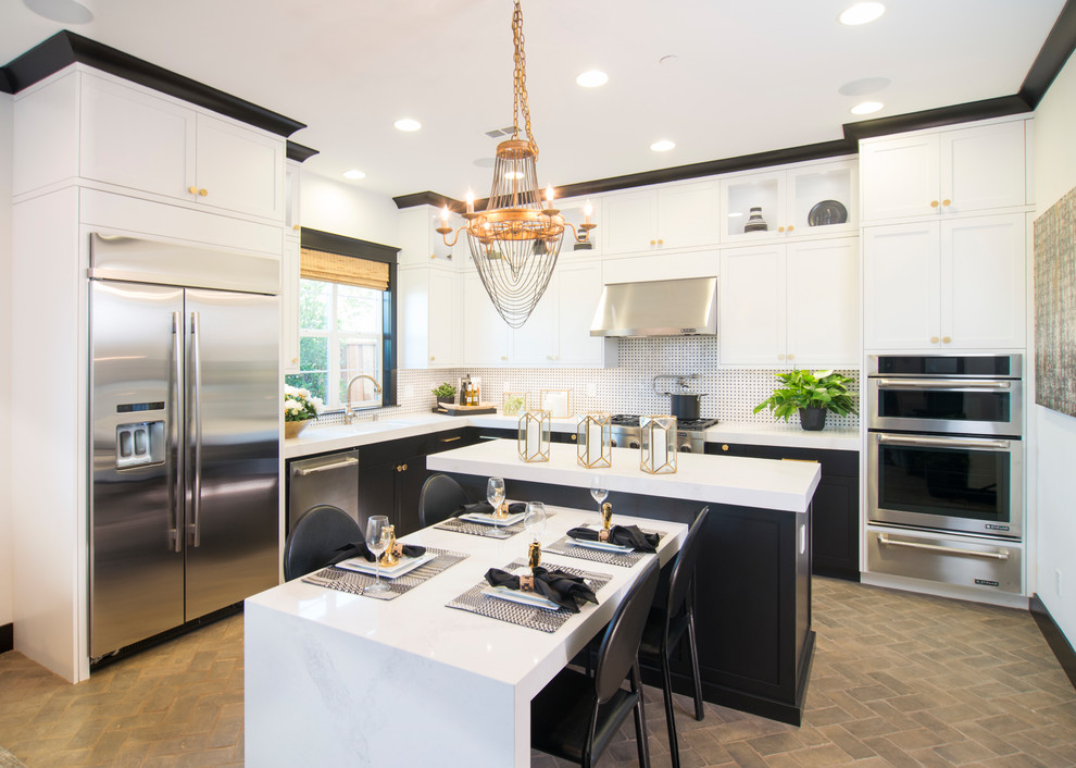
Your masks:
<svg viewBox="0 0 1076 768"><path fill-rule="evenodd" d="M811 510L812 573L860 580L860 455L856 451L706 443L706 453L821 463L822 480Z"/></svg>

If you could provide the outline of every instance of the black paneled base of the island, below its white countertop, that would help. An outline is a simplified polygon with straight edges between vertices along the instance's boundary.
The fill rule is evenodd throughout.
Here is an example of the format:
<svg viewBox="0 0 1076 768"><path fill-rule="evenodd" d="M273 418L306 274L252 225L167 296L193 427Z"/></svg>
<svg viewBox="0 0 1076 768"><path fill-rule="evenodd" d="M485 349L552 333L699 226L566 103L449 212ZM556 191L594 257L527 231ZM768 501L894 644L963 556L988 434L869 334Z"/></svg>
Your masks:
<svg viewBox="0 0 1076 768"><path fill-rule="evenodd" d="M467 494L486 478L453 474ZM588 488L505 479L508 496L593 509ZM700 501L612 492L614 515L690 523ZM811 516L711 504L696 571L696 620L705 701L800 724L814 631L811 629ZM597 512L596 512L597 518ZM801 527L806 530L801 532ZM666 569L667 570L667 569ZM667 589L667 587L666 587ZM686 659L686 656L685 656ZM643 680L660 684L656 669ZM674 659L673 688L691 693L690 668Z"/></svg>

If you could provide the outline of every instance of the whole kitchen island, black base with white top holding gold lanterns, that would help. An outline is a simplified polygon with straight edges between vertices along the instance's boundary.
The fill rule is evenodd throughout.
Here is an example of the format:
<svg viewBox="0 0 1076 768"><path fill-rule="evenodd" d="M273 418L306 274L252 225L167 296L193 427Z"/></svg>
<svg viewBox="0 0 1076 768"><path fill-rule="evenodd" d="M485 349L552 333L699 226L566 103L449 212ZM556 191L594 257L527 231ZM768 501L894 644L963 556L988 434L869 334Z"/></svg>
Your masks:
<svg viewBox="0 0 1076 768"><path fill-rule="evenodd" d="M512 498L590 508L596 518L596 474L614 517L690 523L709 506L696 595L703 697L799 724L814 653L809 542L818 464L680 454L675 474L651 475L638 450L613 448L612 468L588 470L574 445L550 448L548 462L526 463L514 441L485 441L429 456L427 468L454 476L472 498L501 476ZM660 680L656 670L643 679ZM674 659L673 686L691 692L686 658Z"/></svg>

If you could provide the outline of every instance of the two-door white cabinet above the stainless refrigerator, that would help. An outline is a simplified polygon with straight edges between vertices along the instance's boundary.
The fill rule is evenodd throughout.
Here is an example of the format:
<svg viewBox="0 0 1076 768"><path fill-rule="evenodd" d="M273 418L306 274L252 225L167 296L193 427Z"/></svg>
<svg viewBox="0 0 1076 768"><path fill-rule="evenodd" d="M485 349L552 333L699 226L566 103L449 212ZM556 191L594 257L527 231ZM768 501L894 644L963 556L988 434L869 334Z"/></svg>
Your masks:
<svg viewBox="0 0 1076 768"><path fill-rule="evenodd" d="M79 175L284 220L283 138L103 77L82 83Z"/></svg>

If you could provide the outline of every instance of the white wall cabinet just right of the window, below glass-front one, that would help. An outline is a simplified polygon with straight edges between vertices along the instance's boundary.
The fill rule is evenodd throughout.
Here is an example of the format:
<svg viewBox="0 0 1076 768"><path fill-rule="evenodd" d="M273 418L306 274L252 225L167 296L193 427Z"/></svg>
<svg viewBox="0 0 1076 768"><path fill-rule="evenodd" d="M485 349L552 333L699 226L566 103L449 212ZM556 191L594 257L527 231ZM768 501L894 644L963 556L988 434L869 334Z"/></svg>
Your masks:
<svg viewBox="0 0 1076 768"><path fill-rule="evenodd" d="M443 267L401 267L401 368L455 368L463 356L462 278Z"/></svg>

